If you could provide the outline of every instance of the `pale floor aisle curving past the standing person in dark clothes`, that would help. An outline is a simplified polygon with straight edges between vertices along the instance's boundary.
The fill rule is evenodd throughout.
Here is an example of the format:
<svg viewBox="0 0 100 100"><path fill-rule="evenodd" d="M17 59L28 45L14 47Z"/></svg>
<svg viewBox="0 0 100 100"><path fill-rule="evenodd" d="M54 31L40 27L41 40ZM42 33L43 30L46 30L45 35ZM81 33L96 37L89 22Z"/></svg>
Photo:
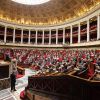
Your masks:
<svg viewBox="0 0 100 100"><path fill-rule="evenodd" d="M34 75L35 71L26 68L25 76L17 79L16 82L16 90L15 92L10 92L9 89L5 89L0 91L0 100L20 100L20 92L25 89L28 84L28 76Z"/></svg>

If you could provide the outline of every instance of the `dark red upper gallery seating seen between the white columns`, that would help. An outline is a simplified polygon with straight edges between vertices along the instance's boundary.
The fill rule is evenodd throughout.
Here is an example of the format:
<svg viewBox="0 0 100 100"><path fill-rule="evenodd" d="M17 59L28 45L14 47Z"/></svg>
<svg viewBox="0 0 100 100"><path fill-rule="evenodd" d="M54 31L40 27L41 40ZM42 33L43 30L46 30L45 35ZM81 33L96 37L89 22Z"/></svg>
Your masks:
<svg viewBox="0 0 100 100"><path fill-rule="evenodd" d="M96 41L97 40L97 21L93 21L90 23L90 41ZM11 32L9 32L9 28L7 29L7 40L5 43L13 43L13 29ZM21 31L16 29L16 35L15 35L15 44L21 43ZM35 33L31 32L31 37L34 39L30 39L30 44L35 44ZM78 27L73 27L73 35L72 35L72 41L73 43L78 43ZM28 44L28 33L24 30L23 34L23 44ZM87 27L85 25L81 25L80 30L80 43L87 42ZM0 43L4 43L4 27L0 26ZM44 44L47 45L49 43L49 32L47 34L44 34ZM58 44L63 43L63 30L58 30ZM65 43L70 44L70 29L65 29ZM42 34L38 33L37 36L37 44L42 44ZM51 32L51 44L56 44L56 33Z"/></svg>

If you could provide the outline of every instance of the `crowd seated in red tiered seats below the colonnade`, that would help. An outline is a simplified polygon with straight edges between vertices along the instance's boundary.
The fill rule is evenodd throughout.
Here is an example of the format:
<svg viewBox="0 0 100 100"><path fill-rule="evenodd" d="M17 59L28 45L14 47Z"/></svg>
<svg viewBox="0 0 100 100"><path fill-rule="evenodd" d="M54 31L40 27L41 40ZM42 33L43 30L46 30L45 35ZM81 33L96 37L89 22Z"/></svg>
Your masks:
<svg viewBox="0 0 100 100"><path fill-rule="evenodd" d="M33 50L1 48L0 53L16 58L17 65L29 67L39 75L68 73L76 71L78 76L85 73L90 78L100 66L100 50ZM96 68L96 70L95 70Z"/></svg>

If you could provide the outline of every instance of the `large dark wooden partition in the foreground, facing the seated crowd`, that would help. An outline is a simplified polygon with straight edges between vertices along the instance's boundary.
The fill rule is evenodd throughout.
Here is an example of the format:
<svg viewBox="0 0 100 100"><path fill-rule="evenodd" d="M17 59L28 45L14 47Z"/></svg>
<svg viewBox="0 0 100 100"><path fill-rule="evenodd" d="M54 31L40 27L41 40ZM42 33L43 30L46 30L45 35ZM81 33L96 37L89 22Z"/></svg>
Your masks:
<svg viewBox="0 0 100 100"><path fill-rule="evenodd" d="M56 96L59 100L99 100L100 98L100 82L70 75L29 77L27 89L38 94Z"/></svg>

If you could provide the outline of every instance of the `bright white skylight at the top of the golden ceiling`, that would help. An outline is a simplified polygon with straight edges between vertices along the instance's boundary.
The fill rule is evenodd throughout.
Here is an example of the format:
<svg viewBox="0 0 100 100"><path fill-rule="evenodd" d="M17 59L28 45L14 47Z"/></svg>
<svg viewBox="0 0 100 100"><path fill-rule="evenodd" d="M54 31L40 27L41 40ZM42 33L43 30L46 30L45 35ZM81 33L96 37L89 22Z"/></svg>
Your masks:
<svg viewBox="0 0 100 100"><path fill-rule="evenodd" d="M46 3L50 0L12 0L12 1L25 5L39 5Z"/></svg>

